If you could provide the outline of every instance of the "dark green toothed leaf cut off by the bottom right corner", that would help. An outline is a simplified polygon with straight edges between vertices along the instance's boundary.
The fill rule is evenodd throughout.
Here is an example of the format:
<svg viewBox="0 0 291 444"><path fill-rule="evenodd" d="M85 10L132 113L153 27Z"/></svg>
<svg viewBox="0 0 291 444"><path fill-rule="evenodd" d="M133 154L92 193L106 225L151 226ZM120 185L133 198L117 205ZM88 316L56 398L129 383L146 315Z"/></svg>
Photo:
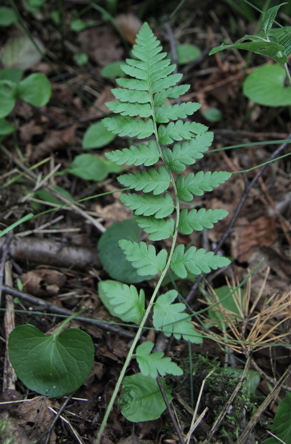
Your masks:
<svg viewBox="0 0 291 444"><path fill-rule="evenodd" d="M284 399L279 402L273 424L269 427L278 438L268 438L263 444L291 443L291 393L286 392ZM281 440L281 441L280 441Z"/></svg>

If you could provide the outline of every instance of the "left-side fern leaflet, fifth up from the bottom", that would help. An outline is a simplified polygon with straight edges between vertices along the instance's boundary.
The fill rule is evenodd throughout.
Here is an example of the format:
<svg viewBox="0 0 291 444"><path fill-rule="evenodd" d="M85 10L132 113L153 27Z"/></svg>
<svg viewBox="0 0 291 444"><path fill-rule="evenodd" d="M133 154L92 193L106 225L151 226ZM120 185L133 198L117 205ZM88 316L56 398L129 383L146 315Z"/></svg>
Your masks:
<svg viewBox="0 0 291 444"><path fill-rule="evenodd" d="M144 190L145 193L153 191L153 194L163 193L170 185L171 176L165 166L158 170L148 170L142 173L123 174L119 176L118 182L124 186L130 186L137 191Z"/></svg>

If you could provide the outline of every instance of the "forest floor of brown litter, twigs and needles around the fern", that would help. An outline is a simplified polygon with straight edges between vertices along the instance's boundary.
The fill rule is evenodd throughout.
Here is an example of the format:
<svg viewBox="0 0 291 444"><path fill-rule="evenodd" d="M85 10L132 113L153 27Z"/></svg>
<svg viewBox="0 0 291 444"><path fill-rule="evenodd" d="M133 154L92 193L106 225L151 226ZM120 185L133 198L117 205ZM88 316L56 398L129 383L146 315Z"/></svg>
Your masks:
<svg viewBox="0 0 291 444"><path fill-rule="evenodd" d="M153 342L161 340L165 354L188 369L182 379L169 380L173 384L173 408L184 436L189 431L202 382L210 370L216 369L212 385L206 386L198 402L198 415L206 407L209 411L193 431L190 443L237 442L242 430L248 426L247 441L239 442L261 443L269 437L266 430L273 422L280 399L291 387L291 376L287 375L285 388L274 393L262 411L255 413L283 375L291 358L288 336L291 316L291 163L290 157L285 157L275 159L263 170L259 165L269 160L279 147L282 147L280 155L290 152L290 145L283 146L280 142L290 139L290 109L260 106L243 94L245 76L257 66L273 63L270 60L259 55L250 57L244 51L208 55L211 48L223 41L233 42L253 33L259 14L251 8L251 19L231 9L226 1L198 0L182 2L170 17L178 1L121 0L100 3L104 8L116 3L116 10L112 11L114 19L107 20L100 9L89 7L86 1L64 0L60 3L61 25L56 25L51 15L56 9L54 2L45 2L35 14L17 2L27 30L18 23L2 28L5 32L0 35L2 50L10 39L25 36L28 31L37 38L45 48L46 58L40 60L36 56L36 61L25 68L25 75L44 73L52 85L51 98L40 109L17 101L8 117L9 122L17 126L17 131L0 143L0 228L4 229L29 213L38 215L18 225L13 235L0 238L0 290L2 283L15 290L10 292L10 299L7 292L3 292L2 310L7 308L5 303L15 305L11 311L12 319L4 319L4 311L1 311L0 334L5 338L13 323L16 326L33 324L41 332L51 333L62 321L58 314L66 314L65 309L73 314L86 308L84 316L93 320L91 324L73 321L70 326L81 328L93 338L95 360L88 379L73 396L69 399L45 398L27 389L17 379L11 385L7 378L5 340L2 339L0 418L9 421L17 443L86 444L93 443L97 437L134 333L130 326L120 327L99 298L98 282L111 276L99 259L97 244L109 226L132 218L132 213L119 200L120 185L115 173L104 180L85 180L65 170L70 168L77 155L84 152L104 157L106 151L128 146L126 138L117 137L105 147L85 149L82 148L82 138L89 125L109 112L105 103L113 99L110 90L116 86L115 80L104 77L102 70L109 63L128 57L136 33L147 21L164 49L172 51L174 61L178 44L195 44L201 50L198 59L178 66L178 72L183 73L182 82L190 84L181 99L182 102L193 101L202 105L194 119L210 127L214 132L214 143L203 160L188 167L187 172L250 170L233 174L213 192L195 198L197 207L224 208L229 214L215 228L205 230L202 236L180 235L179 242L213 250L223 237L220 251L231 258L232 263L226 270L204 277L199 286L196 280L177 281L179 292L197 312L218 300L213 289L220 289L221 294L226 295L225 285L233 289L255 270L234 294L236 300L241 301L238 302L241 310L234 310L235 316L229 315L229 307L218 305L222 313L221 329L209 327L208 311L197 317L195 325L204 335L202 345L189 346L176 339L166 341L150 330L147 337ZM7 0L4 4L9 6L10 2ZM85 8L87 11L84 12ZM74 31L71 24L81 11L84 12L81 16L84 22L93 20L94 23ZM279 14L278 20L284 22L284 16ZM125 40L112 23L119 25ZM80 52L88 55L85 66L78 66L74 61L74 56ZM23 57L28 56L24 54ZM11 67L22 66L16 58ZM219 121L206 118L207 110L211 108L220 111ZM233 147L241 144L245 146ZM218 149L225 147L232 148ZM133 171L129 167L126 169L127 172ZM70 194L64 197L64 190ZM70 202L70 195L75 204L64 207ZM159 245L169 247L167 241L161 241ZM10 265L6 259L10 259ZM148 297L154 281L144 281L139 286ZM166 288L170 289L171 283ZM30 299L25 297L27 294L31 295ZM36 298L45 301L43 310L39 303L37 305ZM37 311L42 312L36 314ZM108 323L96 324L94 320ZM187 374L189 359L196 369L192 381L192 405ZM246 369L250 381L258 377L253 390L252 382L249 383L251 398L245 405L240 392L233 403L227 405L235 388L228 386L227 376L221 370L224 367ZM136 371L133 363L127 374ZM1 404L16 400L27 402ZM61 417L50 429L64 402ZM225 406L227 414L214 430L216 417ZM236 417L231 416L233 408L240 411ZM251 427L252 418L255 423ZM4 442L0 437L0 443ZM179 442L178 437L167 411L154 421L133 424L122 416L117 402L103 438L105 444L176 442Z"/></svg>

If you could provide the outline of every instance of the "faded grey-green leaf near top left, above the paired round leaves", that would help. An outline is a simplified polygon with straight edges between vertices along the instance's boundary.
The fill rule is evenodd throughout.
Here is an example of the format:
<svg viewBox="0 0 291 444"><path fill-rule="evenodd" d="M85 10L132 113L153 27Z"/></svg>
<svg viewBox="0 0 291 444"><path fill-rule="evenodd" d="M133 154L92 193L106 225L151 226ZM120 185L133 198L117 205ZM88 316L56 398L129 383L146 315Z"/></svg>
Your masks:
<svg viewBox="0 0 291 444"><path fill-rule="evenodd" d="M36 49L38 47L39 51ZM20 68L28 70L41 60L41 54L45 52L43 43L38 39L32 40L26 36L10 38L1 50L1 62L4 68Z"/></svg>

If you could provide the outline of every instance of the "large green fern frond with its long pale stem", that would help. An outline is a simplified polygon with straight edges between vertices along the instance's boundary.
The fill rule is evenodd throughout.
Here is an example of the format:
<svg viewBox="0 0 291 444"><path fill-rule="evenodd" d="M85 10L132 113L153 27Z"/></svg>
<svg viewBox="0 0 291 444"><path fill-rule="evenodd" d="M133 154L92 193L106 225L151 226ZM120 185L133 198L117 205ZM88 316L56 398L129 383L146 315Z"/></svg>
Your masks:
<svg viewBox="0 0 291 444"><path fill-rule="evenodd" d="M180 211L180 201L189 202L194 195L201 196L230 177L230 173L222 171L182 174L187 165L192 165L196 159L203 157L203 153L213 141L213 133L207 132L208 128L201 123L182 120L197 111L200 108L199 104L169 105L168 99L179 98L188 90L189 85L177 86L182 74L172 74L175 65L171 65L167 54L162 52L159 40L147 23L137 35L132 54L135 58L127 59L126 64L122 66L122 70L130 78L117 79L119 88L112 89L112 93L118 101L107 103L108 108L118 115L107 117L103 122L110 131L119 136L149 140L138 146L108 152L106 156L119 165L148 167L118 178L120 184L137 191L123 193L120 199L133 210L134 218L149 234L150 241L172 238L172 247L170 252L164 249L157 252L154 245L147 245L145 242L119 242L126 258L137 268L140 275L148 277L159 274L159 279L146 309L143 291L139 294L134 286L119 283L117 288L116 283L104 283L103 291L115 307L116 315L122 317L122 312L128 314L131 311L131 322L140 324L113 393L113 401L151 309L155 329L162 330L167 336L174 334L178 339L182 337L187 341L202 342L201 335L194 330L191 318L184 312L185 305L175 302L177 291L171 290L157 297L168 269L178 277L185 278L188 272L200 274L229 264L228 259L214 255L213 252L206 252L202 248L197 250L190 247L185 250L184 245L176 245L179 232L190 234L193 230L212 228L215 222L227 215L222 209L202 208L198 211L188 211L184 208ZM143 343L136 350L136 359L142 375L154 378L158 372L161 375L182 373L170 358L164 358L162 353L151 353L152 347L151 342ZM132 384L128 390L124 388L119 400L122 413L128 419L136 418L129 411L131 408L137 410L132 390ZM99 439L108 414L109 411L100 429ZM143 420L146 419L148 418Z"/></svg>

